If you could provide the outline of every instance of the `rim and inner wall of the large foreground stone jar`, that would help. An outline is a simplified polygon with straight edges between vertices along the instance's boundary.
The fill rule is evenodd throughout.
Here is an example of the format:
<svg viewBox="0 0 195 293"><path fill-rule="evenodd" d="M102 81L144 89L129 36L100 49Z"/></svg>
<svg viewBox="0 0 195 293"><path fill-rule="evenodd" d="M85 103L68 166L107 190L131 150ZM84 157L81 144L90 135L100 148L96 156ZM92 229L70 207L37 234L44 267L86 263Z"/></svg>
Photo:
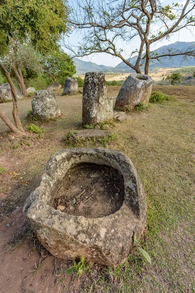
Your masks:
<svg viewBox="0 0 195 293"><path fill-rule="evenodd" d="M127 205L132 210L132 215L137 219L140 218L140 207L142 206L142 202L145 201L145 196L139 198L140 194L144 194L144 192L143 190L141 190L142 192L138 190L138 186L140 186L140 178L132 161L119 151L104 148L72 148L64 149L53 154L43 169L43 175L39 187L29 196L23 207L23 211L28 213L32 206L35 207L36 205L39 205L42 208L43 206L47 206L47 209L50 209L52 213L57 213L63 218L85 218L84 216L76 216L67 214L66 212L62 213L51 207L53 198L55 197L57 189L59 189L64 176L72 167L76 167L80 163L94 163L114 167L123 176L123 203L113 214L104 217L113 217L113 215L120 212L121 209L124 209L124 206ZM61 170L63 171L61 172ZM59 175L59 173L61 173L61 175ZM85 219L93 220L101 218Z"/></svg>

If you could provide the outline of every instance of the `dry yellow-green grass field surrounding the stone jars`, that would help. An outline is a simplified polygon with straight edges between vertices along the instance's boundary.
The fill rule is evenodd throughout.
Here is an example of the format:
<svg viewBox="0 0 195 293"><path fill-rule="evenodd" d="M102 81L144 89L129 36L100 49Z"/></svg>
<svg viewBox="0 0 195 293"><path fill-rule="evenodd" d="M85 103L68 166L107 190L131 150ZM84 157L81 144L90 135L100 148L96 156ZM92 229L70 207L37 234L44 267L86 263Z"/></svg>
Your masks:
<svg viewBox="0 0 195 293"><path fill-rule="evenodd" d="M118 90L118 86L109 86L108 95L116 96ZM123 265L88 267L79 278L73 276L68 287L68 276L61 270L56 277L59 291L51 288L47 292L195 293L195 87L155 85L154 90L172 95L175 100L130 112L127 120L115 124L113 132L117 137L108 146L133 161L143 183L148 219L141 245L150 254L152 265L135 249ZM61 118L42 125L33 122L45 129L43 138L23 140L13 134L1 134L0 165L6 170L0 175L2 215L23 204L39 185L50 155L67 147L63 137L81 127L82 96L58 96L57 101L63 106ZM22 122L29 124L24 117ZM79 146L102 145L83 142ZM27 186L20 177L9 175L16 169ZM41 273L34 276L35 283L41 284L40 276ZM21 283L19 292L44 292L34 291L27 281Z"/></svg>

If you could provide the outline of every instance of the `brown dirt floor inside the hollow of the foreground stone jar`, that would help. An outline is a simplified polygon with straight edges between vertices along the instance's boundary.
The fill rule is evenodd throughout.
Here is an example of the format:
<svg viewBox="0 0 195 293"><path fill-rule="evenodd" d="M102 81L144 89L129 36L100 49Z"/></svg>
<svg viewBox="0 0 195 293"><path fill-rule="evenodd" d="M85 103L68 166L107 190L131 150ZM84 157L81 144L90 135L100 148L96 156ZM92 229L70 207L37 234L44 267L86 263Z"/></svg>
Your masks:
<svg viewBox="0 0 195 293"><path fill-rule="evenodd" d="M61 205L63 212L86 218L113 214L124 200L121 174L111 167L94 164L71 169L59 189L54 208Z"/></svg>

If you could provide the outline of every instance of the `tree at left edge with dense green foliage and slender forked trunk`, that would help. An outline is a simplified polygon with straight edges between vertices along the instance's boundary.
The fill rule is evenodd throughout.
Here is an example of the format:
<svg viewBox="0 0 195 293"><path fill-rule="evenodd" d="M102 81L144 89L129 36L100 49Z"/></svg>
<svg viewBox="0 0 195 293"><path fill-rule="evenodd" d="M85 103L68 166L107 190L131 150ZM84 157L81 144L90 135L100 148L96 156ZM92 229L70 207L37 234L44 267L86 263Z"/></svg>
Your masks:
<svg viewBox="0 0 195 293"><path fill-rule="evenodd" d="M0 56L8 54L15 40L30 41L42 53L58 49L61 34L67 31L69 12L65 0L3 0L0 5ZM23 135L19 118L18 97L10 73L0 62L0 69L11 86L15 124L2 113L0 118L15 133Z"/></svg>

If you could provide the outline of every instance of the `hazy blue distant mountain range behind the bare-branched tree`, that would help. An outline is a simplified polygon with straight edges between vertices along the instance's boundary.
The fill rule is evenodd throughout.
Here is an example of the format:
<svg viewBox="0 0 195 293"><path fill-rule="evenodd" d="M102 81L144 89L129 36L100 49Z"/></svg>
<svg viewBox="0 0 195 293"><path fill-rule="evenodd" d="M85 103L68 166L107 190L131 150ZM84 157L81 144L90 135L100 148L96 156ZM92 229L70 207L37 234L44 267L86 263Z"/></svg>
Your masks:
<svg viewBox="0 0 195 293"><path fill-rule="evenodd" d="M156 50L154 53L162 54L163 51L167 49L176 48L178 50L185 50L189 46L195 45L195 42L175 42L173 44L169 44L166 46L162 46ZM130 58L130 62L134 65L136 63L137 57ZM124 62L119 63L117 66L105 66L105 65L98 65L93 62L86 62L82 61L78 58L74 59L74 63L77 68L77 74L85 74L86 72L91 71L103 71L103 72L133 72L134 70L131 69L127 64ZM150 69L159 67L159 68L177 68L177 67L184 67L184 66L195 66L195 58L192 57L190 60L183 60L182 56L175 56L172 59L169 57L160 58L160 62L154 60L154 62L150 63Z"/></svg>

